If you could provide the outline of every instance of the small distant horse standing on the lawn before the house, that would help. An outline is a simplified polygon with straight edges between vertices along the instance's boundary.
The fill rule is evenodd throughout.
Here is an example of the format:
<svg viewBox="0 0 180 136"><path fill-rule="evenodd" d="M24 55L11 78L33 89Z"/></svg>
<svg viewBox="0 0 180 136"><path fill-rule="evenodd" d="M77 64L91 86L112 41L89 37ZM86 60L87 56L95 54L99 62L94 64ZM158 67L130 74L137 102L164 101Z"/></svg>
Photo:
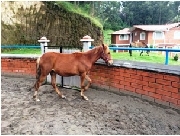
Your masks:
<svg viewBox="0 0 180 136"><path fill-rule="evenodd" d="M147 44L144 43L144 42L139 42L139 41L136 41L136 42L131 42L130 43L130 48L132 47L135 47L135 48L148 48ZM149 52L150 51L146 51L147 55L149 56ZM129 50L129 54L130 56L132 56L132 50ZM141 51L140 53L140 56L143 54L143 50Z"/></svg>

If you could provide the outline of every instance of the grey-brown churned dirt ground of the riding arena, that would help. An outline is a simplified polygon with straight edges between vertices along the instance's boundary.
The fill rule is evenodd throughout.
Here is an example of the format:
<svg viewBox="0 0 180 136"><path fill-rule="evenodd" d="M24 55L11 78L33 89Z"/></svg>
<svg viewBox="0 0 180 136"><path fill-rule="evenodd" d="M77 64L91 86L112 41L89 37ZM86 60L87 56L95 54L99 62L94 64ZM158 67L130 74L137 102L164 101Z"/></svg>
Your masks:
<svg viewBox="0 0 180 136"><path fill-rule="evenodd" d="M32 99L35 79L1 76L1 134L180 134L179 112L127 95L89 89L82 100L77 90L61 88L60 99L51 85Z"/></svg>

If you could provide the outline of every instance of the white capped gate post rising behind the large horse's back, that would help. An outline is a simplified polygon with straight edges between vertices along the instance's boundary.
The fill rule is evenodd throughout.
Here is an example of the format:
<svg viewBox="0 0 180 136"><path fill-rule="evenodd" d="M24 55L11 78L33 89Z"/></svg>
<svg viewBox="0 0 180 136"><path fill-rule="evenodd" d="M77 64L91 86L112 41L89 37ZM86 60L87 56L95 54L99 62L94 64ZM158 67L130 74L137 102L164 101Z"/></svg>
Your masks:
<svg viewBox="0 0 180 136"><path fill-rule="evenodd" d="M94 41L94 39L91 39L89 35L86 35L80 39L80 41L83 42L83 52L85 52L89 50L89 47L91 47L91 42Z"/></svg>

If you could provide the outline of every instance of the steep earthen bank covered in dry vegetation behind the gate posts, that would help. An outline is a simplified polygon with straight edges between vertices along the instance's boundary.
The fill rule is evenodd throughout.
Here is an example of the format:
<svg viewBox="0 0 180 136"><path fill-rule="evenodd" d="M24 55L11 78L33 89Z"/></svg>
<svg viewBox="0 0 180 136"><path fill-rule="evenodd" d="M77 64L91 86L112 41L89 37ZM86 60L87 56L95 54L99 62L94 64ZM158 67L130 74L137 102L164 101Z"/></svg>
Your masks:
<svg viewBox="0 0 180 136"><path fill-rule="evenodd" d="M46 36L51 46L82 47L85 35L94 39L93 45L103 43L103 29L81 14L71 12L64 1L2 1L1 44L38 44ZM72 4L73 5L73 4ZM99 25L97 25L99 24Z"/></svg>

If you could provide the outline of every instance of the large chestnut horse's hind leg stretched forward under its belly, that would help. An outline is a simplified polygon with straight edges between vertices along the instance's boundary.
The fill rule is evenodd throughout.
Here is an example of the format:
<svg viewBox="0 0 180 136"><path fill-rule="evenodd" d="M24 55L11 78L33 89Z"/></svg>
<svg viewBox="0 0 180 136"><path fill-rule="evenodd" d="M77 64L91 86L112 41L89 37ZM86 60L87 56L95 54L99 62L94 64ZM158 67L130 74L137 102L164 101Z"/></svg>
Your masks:
<svg viewBox="0 0 180 136"><path fill-rule="evenodd" d="M52 84L53 88L55 89L55 91L57 92L57 94L61 98L66 98L64 95L61 94L61 92L59 91L58 87L56 86L56 73L54 71L51 71L50 75L51 75L51 84Z"/></svg>

